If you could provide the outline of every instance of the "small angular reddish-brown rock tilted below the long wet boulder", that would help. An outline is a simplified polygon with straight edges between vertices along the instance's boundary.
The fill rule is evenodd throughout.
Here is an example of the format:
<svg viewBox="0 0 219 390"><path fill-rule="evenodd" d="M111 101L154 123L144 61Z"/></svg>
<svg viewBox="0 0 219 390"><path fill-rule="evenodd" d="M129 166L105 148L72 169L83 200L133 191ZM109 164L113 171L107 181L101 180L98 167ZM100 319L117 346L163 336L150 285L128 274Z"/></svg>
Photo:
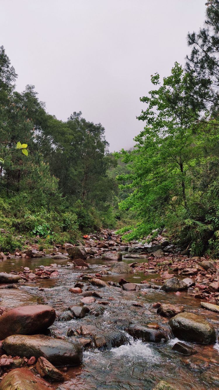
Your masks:
<svg viewBox="0 0 219 390"><path fill-rule="evenodd" d="M63 381L64 376L61 371L57 370L46 358L40 356L37 360L36 370L40 374L41 378L45 378L48 381Z"/></svg>

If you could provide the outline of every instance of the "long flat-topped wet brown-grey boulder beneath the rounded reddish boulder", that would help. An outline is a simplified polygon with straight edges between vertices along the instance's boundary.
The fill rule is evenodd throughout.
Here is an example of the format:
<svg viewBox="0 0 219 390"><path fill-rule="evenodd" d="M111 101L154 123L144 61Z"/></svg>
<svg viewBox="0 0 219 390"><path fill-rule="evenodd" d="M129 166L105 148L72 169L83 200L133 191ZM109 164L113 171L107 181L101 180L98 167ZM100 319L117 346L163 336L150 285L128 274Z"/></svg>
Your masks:
<svg viewBox="0 0 219 390"><path fill-rule="evenodd" d="M82 362L81 345L76 339L69 342L45 335L12 335L2 342L2 346L7 355L26 356L28 359L43 356L56 366L75 366Z"/></svg>

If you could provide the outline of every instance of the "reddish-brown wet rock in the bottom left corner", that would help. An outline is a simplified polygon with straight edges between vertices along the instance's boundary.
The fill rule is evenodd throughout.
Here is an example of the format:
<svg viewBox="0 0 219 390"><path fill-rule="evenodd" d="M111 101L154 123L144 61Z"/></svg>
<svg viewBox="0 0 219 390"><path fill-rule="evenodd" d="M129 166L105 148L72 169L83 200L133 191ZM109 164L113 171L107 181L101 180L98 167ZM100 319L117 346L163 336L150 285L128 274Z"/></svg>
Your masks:
<svg viewBox="0 0 219 390"><path fill-rule="evenodd" d="M52 387L42 378L35 376L27 368L10 371L0 382L0 390L48 390Z"/></svg>

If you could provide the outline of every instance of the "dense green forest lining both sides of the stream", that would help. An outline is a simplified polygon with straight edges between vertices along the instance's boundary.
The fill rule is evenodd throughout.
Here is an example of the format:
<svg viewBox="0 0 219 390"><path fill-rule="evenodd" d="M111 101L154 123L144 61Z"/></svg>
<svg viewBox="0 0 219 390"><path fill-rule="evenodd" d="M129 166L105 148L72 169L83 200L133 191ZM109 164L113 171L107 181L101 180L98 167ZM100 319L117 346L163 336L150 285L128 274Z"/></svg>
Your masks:
<svg viewBox="0 0 219 390"><path fill-rule="evenodd" d="M73 112L60 121L0 48L0 247L38 236L44 248L75 243L100 227L127 240L166 228L191 254L219 255L219 2L207 3L175 62L140 100L133 150L110 154L104 128Z"/></svg>

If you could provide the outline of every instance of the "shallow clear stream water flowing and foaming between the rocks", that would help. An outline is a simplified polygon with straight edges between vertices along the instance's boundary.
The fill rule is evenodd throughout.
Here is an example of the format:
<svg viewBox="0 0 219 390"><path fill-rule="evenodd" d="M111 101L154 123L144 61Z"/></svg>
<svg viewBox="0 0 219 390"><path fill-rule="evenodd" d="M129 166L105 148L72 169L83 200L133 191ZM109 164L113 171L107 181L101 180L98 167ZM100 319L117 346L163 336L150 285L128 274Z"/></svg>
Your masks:
<svg viewBox="0 0 219 390"><path fill-rule="evenodd" d="M90 266L82 271L84 275L86 273L95 274L104 269L103 264L109 264L99 258L88 259L88 261ZM124 261L132 262L127 259ZM141 259L141 261L145 260ZM144 288L138 292L126 292L113 286L98 289L82 281L79 278L81 270L68 265L68 260L58 261L56 259L55 262L59 277L27 282L19 285L19 289L1 288L0 305L16 307L45 303L53 306L57 312L63 312L69 306L80 303L82 297L68 291L70 287L74 287L76 281L80 280L84 284L83 291L86 289L98 291L102 299L96 298L96 302L90 305L91 312L93 310L94 314L88 314L82 319L56 321L51 329L58 331L60 335L65 336L68 328L77 330L82 324L95 325L107 333L115 329L114 320L122 317L141 325L156 322L168 334L168 342L155 344L134 340L122 330L127 340L126 344L111 349L84 351L82 365L68 368L65 374L66 381L63 384L54 384L55 389L146 390L152 389L160 380L165 380L178 389L214 390L219 388L219 344L204 346L187 343L198 350L196 355L183 356L175 353L171 348L177 339L174 339L170 332L168 319L156 314L157 309L152 308L151 305L155 302L184 305L186 311L207 318L217 331L219 316L201 308L200 301L191 296L191 289L180 295ZM0 263L0 272L22 271L23 267L34 270L51 263L54 263L54 259L48 257L28 260L10 259ZM104 275L102 280L118 282L121 277L133 283L140 283L142 280L150 281L159 278L159 275L146 276L143 272L129 275L109 273L109 275ZM101 301L108 301L109 304L101 305ZM143 307L135 306L137 303Z"/></svg>

